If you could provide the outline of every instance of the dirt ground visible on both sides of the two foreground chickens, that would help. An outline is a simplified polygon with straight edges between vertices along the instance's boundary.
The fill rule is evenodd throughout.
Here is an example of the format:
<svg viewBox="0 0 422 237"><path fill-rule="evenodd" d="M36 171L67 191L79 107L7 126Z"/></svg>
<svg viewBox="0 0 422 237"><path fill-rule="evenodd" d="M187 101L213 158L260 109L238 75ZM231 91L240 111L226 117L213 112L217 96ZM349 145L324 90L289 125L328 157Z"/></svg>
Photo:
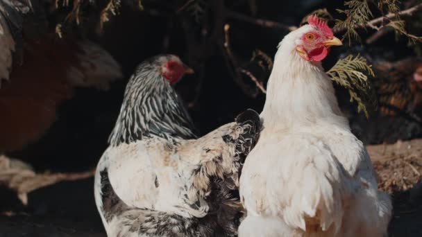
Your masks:
<svg viewBox="0 0 422 237"><path fill-rule="evenodd" d="M380 188L394 200L390 236L422 236L422 139L368 146L368 151ZM14 193L2 195L0 237L105 236L92 184L91 177L40 188L28 195L28 207Z"/></svg>

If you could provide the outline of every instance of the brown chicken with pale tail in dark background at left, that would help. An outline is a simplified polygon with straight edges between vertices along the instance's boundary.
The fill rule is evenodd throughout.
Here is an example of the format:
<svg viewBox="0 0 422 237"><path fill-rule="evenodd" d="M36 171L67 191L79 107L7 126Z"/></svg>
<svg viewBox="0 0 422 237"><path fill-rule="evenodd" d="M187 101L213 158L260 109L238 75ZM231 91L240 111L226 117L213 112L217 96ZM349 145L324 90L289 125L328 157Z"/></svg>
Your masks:
<svg viewBox="0 0 422 237"><path fill-rule="evenodd" d="M24 62L15 64L0 89L0 151L23 148L56 120L60 102L75 87L108 89L122 77L119 64L100 46L54 36L25 44Z"/></svg>

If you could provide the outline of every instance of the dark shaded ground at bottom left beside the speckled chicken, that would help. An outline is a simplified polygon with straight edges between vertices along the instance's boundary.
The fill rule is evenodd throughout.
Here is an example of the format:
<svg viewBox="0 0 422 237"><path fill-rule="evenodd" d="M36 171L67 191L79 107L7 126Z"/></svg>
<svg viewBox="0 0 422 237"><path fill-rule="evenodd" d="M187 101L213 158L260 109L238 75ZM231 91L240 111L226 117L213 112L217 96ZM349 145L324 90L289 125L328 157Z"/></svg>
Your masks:
<svg viewBox="0 0 422 237"><path fill-rule="evenodd" d="M94 193L93 182L60 182L34 191L28 207L15 206L12 216L0 216L0 236L105 236L94 195L87 195Z"/></svg>

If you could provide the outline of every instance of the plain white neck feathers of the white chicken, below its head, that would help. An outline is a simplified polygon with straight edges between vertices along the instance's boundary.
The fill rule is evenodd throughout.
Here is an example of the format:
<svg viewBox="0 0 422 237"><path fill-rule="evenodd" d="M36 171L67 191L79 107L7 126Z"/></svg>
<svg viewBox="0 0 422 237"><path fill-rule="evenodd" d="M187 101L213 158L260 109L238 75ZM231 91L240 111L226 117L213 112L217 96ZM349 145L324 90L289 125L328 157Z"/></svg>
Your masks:
<svg viewBox="0 0 422 237"><path fill-rule="evenodd" d="M311 27L311 26L309 26ZM335 119L344 123L330 78L320 62L308 62L296 52L303 27L286 35L279 45L267 85L267 100L262 111L265 123L309 123L316 119ZM298 36L299 35L299 36Z"/></svg>

